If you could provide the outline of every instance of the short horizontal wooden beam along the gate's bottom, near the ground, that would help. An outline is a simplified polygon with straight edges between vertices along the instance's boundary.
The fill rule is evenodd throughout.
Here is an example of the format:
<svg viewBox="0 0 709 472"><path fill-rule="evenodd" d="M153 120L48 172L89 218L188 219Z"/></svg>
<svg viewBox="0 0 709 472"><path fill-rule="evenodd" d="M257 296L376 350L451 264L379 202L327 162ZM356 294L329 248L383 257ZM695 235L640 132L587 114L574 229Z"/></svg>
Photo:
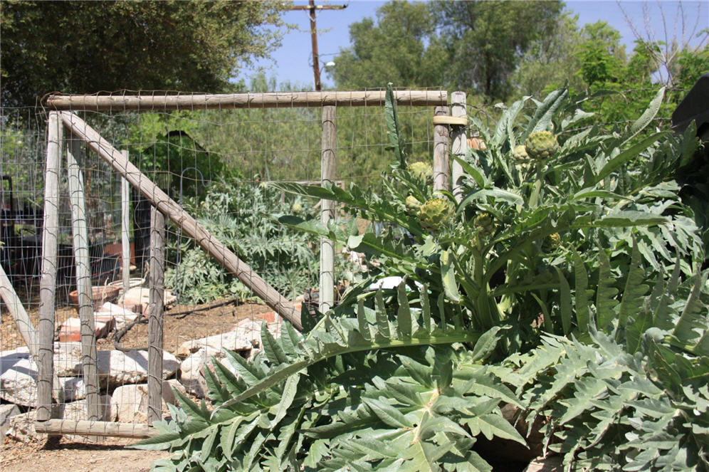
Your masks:
<svg viewBox="0 0 709 472"><path fill-rule="evenodd" d="M147 424L88 421L83 419L35 421L34 429L40 434L80 434L81 436L115 436L134 439L149 438L158 434L157 429L151 428Z"/></svg>

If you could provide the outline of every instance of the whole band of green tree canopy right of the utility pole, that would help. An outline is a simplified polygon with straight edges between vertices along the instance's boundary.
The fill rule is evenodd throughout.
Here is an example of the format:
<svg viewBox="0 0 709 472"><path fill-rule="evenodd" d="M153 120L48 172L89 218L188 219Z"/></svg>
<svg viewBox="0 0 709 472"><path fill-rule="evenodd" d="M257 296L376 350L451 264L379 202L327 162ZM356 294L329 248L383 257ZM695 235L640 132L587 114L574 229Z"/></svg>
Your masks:
<svg viewBox="0 0 709 472"><path fill-rule="evenodd" d="M569 5L573 9L573 4ZM678 14L683 14L678 11ZM609 120L636 115L661 85L686 90L709 71L709 30L689 31L699 46L652 34L626 51L604 21L579 26L560 1L390 1L350 25L350 47L335 58L337 88L404 87L466 90L471 102L495 103L568 87L606 90ZM636 36L639 33L636 32ZM685 35L683 33L682 37ZM639 90L630 97L626 90ZM607 95L606 95L607 96ZM666 103L677 103L674 93ZM633 103L628 107L627 103Z"/></svg>

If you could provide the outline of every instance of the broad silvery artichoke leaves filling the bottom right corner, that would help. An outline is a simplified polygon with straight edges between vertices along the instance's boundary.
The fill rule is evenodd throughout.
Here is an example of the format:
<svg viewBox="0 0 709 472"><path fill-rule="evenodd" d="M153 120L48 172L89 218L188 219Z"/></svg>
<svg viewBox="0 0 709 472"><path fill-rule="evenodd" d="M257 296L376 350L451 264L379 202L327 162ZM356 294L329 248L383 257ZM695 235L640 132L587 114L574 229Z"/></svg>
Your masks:
<svg viewBox="0 0 709 472"><path fill-rule="evenodd" d="M681 281L677 263L649 290L636 247L632 259L620 303L612 280L599 282L587 341L545 336L510 357L509 380L571 469L706 471L708 274Z"/></svg>

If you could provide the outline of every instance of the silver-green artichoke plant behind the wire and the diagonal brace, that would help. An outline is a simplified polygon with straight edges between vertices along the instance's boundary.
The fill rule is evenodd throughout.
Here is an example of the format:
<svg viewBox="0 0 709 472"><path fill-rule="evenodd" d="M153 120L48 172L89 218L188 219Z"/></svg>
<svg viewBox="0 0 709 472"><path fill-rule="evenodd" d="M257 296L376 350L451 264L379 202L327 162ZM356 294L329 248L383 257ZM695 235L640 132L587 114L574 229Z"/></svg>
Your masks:
<svg viewBox="0 0 709 472"><path fill-rule="evenodd" d="M282 200L280 192L272 188L237 180L212 182L203 197L187 198L183 204L202 226L281 293L295 298L317 285L315 238L284 228L277 221L298 206L299 214L313 215L309 201ZM177 251L182 252L179 261ZM253 297L246 285L184 235L171 239L167 259L167 286L186 302Z"/></svg>

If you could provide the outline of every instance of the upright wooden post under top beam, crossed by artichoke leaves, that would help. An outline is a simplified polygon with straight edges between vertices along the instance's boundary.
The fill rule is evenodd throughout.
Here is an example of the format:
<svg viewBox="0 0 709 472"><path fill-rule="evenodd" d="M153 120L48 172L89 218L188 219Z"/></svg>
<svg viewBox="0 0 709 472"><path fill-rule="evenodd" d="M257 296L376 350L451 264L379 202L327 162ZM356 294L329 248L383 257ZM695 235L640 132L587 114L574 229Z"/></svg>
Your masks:
<svg viewBox="0 0 709 472"><path fill-rule="evenodd" d="M322 184L335 182L335 147L337 145L337 107L322 107L322 143L320 180ZM335 219L335 201L320 201L320 223ZM320 238L320 312L335 305L335 241Z"/></svg>

